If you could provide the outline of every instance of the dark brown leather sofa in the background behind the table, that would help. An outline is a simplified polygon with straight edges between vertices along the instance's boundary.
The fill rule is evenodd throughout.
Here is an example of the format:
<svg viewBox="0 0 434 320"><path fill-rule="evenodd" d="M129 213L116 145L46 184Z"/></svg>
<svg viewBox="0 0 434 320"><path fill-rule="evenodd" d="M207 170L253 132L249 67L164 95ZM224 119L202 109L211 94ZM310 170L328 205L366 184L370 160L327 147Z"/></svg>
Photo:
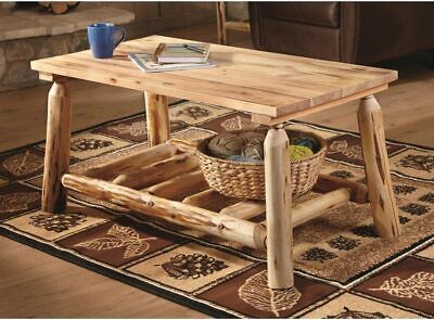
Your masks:
<svg viewBox="0 0 434 320"><path fill-rule="evenodd" d="M250 2L256 49L372 64L434 50L434 2Z"/></svg>

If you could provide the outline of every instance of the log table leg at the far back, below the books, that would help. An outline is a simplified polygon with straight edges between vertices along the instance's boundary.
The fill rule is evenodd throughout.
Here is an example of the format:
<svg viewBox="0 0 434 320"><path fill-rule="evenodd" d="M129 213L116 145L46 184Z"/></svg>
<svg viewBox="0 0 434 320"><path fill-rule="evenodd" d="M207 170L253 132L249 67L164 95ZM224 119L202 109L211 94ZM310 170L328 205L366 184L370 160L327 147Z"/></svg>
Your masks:
<svg viewBox="0 0 434 320"><path fill-rule="evenodd" d="M148 140L151 146L170 138L170 120L166 95L144 92Z"/></svg>

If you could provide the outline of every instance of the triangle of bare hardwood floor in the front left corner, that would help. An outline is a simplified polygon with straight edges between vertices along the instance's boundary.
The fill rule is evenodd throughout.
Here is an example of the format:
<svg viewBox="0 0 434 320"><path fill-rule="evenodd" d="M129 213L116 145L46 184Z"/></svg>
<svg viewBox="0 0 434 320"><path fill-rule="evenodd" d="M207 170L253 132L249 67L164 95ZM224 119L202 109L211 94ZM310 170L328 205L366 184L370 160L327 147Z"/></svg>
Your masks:
<svg viewBox="0 0 434 320"><path fill-rule="evenodd" d="M204 317L7 238L0 247L0 318Z"/></svg>

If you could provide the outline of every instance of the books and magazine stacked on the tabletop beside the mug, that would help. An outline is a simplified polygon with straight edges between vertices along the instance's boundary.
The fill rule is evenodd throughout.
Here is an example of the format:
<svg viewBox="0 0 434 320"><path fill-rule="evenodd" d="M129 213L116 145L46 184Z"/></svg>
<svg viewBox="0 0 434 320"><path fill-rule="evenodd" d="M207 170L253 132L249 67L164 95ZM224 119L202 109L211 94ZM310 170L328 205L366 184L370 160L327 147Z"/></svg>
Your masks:
<svg viewBox="0 0 434 320"><path fill-rule="evenodd" d="M159 43L154 53L128 53L145 73L161 73L215 66L208 60L208 43Z"/></svg>

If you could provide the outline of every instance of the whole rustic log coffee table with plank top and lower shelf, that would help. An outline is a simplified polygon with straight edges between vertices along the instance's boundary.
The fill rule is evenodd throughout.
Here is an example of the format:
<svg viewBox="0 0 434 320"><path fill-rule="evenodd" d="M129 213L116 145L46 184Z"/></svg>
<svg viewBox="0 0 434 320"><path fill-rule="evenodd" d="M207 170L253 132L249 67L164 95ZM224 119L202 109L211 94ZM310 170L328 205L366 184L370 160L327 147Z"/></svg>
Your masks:
<svg viewBox="0 0 434 320"><path fill-rule="evenodd" d="M72 189L148 216L267 249L268 283L272 289L293 286L293 227L327 208L349 200L369 201L376 232L386 238L399 234L382 113L373 97L387 89L388 82L397 78L396 72L217 44L210 49L210 60L217 64L214 68L144 74L127 57L128 52L153 52L159 42L183 41L187 40L152 36L123 43L113 59L95 60L90 51L82 51L31 62L31 68L39 72L41 79L53 81L48 98L43 210L63 212L66 189ZM84 175L67 174L71 138L67 78L144 92L148 137L153 148ZM203 177L188 145L168 140L167 97L247 112L253 121L269 126L265 141L265 204L239 200L216 213L200 205L209 191L194 194L189 190L184 196L184 189L203 183ZM369 192L365 184L321 176L319 189L333 191L292 207L289 139L279 125L358 99ZM264 209L266 229L248 221Z"/></svg>

